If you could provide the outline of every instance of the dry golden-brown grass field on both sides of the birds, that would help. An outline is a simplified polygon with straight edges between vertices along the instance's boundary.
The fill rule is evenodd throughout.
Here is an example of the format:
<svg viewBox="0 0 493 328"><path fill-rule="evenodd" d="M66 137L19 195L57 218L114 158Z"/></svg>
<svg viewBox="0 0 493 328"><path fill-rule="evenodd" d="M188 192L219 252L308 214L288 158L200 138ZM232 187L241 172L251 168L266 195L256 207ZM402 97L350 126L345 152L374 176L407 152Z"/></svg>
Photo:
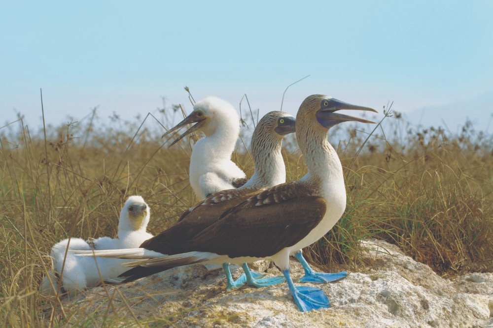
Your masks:
<svg viewBox="0 0 493 328"><path fill-rule="evenodd" d="M391 138L377 129L364 144L367 135L351 130L347 143L335 145L346 174L347 210L305 253L330 268L356 269L359 240L377 237L442 275L493 271L491 137L470 125L451 136L441 129L408 131L400 120L388 120L395 124ZM37 287L53 244L69 236L114 237L128 196L141 195L149 204L154 234L196 201L187 175L190 145L163 147L162 130L150 121L48 127L46 141L45 131L31 135L22 120L15 123L20 133L0 130L0 317L6 325L112 325L115 318L74 319L76 310L43 298ZM303 157L293 138L284 144L288 180L299 179L306 172ZM238 150L234 159L251 175L251 158L243 144Z"/></svg>

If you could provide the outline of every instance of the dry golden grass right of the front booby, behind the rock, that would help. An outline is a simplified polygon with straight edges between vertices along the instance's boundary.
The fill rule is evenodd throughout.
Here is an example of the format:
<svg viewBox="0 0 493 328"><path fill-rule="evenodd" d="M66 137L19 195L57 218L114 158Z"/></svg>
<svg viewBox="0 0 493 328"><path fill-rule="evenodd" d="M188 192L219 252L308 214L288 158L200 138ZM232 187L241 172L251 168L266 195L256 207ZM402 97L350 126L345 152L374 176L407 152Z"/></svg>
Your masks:
<svg viewBox="0 0 493 328"><path fill-rule="evenodd" d="M469 123L456 136L441 128L415 130L399 119L393 123L387 128L394 132L392 142L382 132L357 157L351 155L366 135L351 131L353 138L339 152L346 212L326 240L310 247L310 257L355 268L357 241L376 237L442 276L492 272L492 137Z"/></svg>

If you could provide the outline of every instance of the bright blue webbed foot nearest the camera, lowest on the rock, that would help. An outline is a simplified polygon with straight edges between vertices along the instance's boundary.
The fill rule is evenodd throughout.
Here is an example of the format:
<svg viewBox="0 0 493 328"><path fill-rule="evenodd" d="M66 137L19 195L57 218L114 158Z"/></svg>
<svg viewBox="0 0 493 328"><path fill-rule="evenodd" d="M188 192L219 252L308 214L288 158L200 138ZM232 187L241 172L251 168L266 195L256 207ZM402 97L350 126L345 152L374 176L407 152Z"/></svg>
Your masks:
<svg viewBox="0 0 493 328"><path fill-rule="evenodd" d="M282 271L282 273L286 277L289 291L296 305L302 312L330 307L330 301L321 289L308 286L296 287L289 275L289 269Z"/></svg>

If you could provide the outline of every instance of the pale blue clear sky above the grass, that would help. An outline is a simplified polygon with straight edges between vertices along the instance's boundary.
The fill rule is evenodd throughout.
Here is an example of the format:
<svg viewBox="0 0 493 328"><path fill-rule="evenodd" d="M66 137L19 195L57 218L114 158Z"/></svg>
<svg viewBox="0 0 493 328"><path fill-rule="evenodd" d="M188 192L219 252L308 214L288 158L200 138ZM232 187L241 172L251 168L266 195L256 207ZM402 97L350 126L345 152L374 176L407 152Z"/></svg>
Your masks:
<svg viewBox="0 0 493 328"><path fill-rule="evenodd" d="M131 119L215 95L294 114L324 93L423 123L493 113L493 1L2 1L0 126ZM474 104L468 108L467 104ZM490 131L492 131L490 129Z"/></svg>

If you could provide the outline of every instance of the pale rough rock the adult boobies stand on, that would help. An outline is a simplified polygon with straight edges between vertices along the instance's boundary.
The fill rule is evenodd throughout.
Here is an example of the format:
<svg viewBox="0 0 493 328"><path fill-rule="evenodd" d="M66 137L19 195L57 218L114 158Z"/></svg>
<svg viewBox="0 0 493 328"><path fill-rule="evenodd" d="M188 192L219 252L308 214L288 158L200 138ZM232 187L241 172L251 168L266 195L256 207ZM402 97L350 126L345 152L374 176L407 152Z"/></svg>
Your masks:
<svg viewBox="0 0 493 328"><path fill-rule="evenodd" d="M94 288L62 304L79 308L78 316L117 312L113 325L121 326L137 320L159 327L493 327L493 273L447 280L385 241L372 239L363 247L370 264L359 272L333 283L307 284L322 288L331 301L330 308L318 311L301 313L285 283L226 291L223 272L203 265ZM252 268L280 275L265 262ZM238 276L241 270L233 272ZM291 272L301 285L298 262L291 261Z"/></svg>

